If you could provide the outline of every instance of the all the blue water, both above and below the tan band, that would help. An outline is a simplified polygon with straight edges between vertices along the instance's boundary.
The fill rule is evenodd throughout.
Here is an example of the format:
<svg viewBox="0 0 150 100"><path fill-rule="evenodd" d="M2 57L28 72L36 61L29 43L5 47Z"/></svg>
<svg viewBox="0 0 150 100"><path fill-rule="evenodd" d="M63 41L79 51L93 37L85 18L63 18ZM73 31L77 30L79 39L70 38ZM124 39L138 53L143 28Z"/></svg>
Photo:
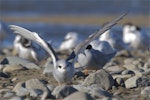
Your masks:
<svg viewBox="0 0 150 100"><path fill-rule="evenodd" d="M5 16L30 17L46 15L116 15L129 11L132 15L150 15L150 0L0 0L0 21ZM79 33L85 39L100 28L99 25L73 25L49 23L4 22L5 26L15 24L37 32L46 41L52 41L58 47L67 32ZM148 27L142 27L150 33ZM0 48L12 46L15 35L8 28L5 39L0 39ZM115 26L113 31L121 33L122 27ZM2 34L0 30L0 35Z"/></svg>

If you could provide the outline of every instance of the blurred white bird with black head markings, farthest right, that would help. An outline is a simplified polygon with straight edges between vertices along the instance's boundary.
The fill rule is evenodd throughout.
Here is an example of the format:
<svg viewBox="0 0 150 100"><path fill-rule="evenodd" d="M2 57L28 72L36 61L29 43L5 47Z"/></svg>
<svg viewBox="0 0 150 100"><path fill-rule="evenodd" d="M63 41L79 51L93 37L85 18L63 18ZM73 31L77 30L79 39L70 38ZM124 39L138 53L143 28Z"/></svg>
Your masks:
<svg viewBox="0 0 150 100"><path fill-rule="evenodd" d="M125 24L123 27L123 41L128 45L129 49L146 50L150 44L149 36L141 31L141 28L133 24Z"/></svg>

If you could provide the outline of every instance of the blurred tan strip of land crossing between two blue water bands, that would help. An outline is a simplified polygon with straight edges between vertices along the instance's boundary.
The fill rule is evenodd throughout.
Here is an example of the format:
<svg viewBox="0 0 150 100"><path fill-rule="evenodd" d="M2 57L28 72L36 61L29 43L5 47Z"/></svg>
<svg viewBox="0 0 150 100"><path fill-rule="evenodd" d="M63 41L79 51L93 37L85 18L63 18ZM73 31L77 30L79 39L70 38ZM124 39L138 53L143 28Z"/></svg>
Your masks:
<svg viewBox="0 0 150 100"><path fill-rule="evenodd" d="M93 24L101 25L105 22L111 21L119 15L42 15L42 16L1 16L1 20L5 22L43 22L54 24ZM150 16L137 15L125 16L119 23L132 22L135 25L150 26Z"/></svg>

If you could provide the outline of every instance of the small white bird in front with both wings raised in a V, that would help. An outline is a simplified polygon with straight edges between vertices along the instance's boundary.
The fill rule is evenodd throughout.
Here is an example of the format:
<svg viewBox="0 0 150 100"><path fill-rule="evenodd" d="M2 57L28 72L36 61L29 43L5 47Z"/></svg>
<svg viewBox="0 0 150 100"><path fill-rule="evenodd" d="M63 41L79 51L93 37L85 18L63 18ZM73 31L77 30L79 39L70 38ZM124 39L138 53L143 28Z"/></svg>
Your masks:
<svg viewBox="0 0 150 100"><path fill-rule="evenodd" d="M93 33L89 38L87 38L85 41L81 42L71 53L71 55L66 60L60 60L54 49L50 44L48 44L46 41L44 41L39 35L35 32L30 32L27 29L24 29L19 26L10 25L10 28L14 30L15 33L32 40L39 44L41 47L43 47L52 57L53 61L53 76L57 80L58 84L62 83L68 83L71 82L71 79L74 75L74 63L76 61L76 58L78 54L80 54L83 50L85 50L89 43L93 41L95 38L99 37L101 34L103 34L106 30L113 27L119 20L121 20L126 14L123 14L113 20L112 22L105 25L102 29L98 30L97 32ZM84 59L82 59L84 60Z"/></svg>

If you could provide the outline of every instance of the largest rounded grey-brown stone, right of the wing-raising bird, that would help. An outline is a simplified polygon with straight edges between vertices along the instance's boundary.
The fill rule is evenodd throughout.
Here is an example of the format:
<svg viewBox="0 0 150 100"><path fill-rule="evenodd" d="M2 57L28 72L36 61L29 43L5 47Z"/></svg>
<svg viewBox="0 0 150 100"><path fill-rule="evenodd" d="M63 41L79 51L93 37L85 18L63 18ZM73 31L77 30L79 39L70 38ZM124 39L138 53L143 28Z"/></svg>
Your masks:
<svg viewBox="0 0 150 100"><path fill-rule="evenodd" d="M83 85L85 86L90 86L92 84L98 84L100 87L108 90L114 85L114 80L105 70L98 70L87 76L83 82Z"/></svg>

